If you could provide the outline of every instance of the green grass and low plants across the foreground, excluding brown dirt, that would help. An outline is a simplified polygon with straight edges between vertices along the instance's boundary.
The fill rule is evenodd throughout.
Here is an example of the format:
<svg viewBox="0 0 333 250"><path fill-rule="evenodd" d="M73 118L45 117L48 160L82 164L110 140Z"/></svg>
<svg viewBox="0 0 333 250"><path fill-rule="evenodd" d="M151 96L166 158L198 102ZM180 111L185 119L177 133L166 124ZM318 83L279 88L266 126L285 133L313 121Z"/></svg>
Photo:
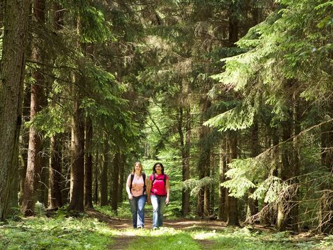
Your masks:
<svg viewBox="0 0 333 250"><path fill-rule="evenodd" d="M128 209L124 204L117 217L130 218ZM110 207L99 210L116 216ZM289 232L266 233L247 227L221 227L218 231L205 228L192 231L174 228L116 230L86 215L67 217L65 211L59 210L54 219L35 217L3 224L0 226L0 249L113 249L112 246L119 247L117 238L129 240L128 249L333 249L333 235L320 241L300 239L291 242L291 237Z"/></svg>

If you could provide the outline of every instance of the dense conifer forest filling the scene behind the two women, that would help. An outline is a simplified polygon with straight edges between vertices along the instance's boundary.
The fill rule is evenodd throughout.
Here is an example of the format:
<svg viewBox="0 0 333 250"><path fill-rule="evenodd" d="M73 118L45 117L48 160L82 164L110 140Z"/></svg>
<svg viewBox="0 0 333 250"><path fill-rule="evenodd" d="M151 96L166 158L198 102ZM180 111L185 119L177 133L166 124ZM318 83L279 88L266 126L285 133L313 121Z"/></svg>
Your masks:
<svg viewBox="0 0 333 250"><path fill-rule="evenodd" d="M333 231L333 1L0 1L0 215L126 199Z"/></svg>

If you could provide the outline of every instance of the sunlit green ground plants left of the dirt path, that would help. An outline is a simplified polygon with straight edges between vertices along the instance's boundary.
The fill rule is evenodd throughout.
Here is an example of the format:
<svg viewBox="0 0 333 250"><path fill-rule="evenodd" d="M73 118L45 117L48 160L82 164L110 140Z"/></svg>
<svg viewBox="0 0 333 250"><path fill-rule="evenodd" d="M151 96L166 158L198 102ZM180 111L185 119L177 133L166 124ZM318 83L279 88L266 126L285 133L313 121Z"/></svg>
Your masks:
<svg viewBox="0 0 333 250"><path fill-rule="evenodd" d="M108 226L89 218L29 218L0 228L0 249L106 249Z"/></svg>

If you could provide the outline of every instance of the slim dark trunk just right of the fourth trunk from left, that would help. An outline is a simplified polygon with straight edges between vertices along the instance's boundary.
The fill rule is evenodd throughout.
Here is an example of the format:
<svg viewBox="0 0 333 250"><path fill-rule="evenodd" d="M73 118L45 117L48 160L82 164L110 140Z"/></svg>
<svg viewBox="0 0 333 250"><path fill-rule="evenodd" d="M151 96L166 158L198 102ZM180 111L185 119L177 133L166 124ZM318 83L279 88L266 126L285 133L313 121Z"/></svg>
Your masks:
<svg viewBox="0 0 333 250"><path fill-rule="evenodd" d="M85 208L92 206L92 119L85 124Z"/></svg>

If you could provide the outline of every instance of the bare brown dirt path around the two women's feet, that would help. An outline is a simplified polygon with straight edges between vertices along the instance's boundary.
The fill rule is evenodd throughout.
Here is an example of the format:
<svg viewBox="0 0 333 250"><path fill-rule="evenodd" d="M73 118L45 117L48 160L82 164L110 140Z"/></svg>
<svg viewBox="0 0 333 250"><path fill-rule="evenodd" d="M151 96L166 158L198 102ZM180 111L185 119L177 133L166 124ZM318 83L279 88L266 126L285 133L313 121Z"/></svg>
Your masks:
<svg viewBox="0 0 333 250"><path fill-rule="evenodd" d="M112 250L120 250L120 249L130 249L130 242L137 239L135 233L125 231L124 229L133 228L132 219L119 219L110 217L103 213L100 213L96 210L86 210L86 213L99 219L99 222L105 222L113 229L119 229L119 234L117 237L114 238L114 244L110 246ZM152 229L152 219L145 218L145 229L144 230L151 230ZM195 230L222 230L225 228L225 222L217 222L217 221L210 221L210 220L193 220L193 219L164 219L163 222L166 228L175 228L184 231L195 231ZM214 242L210 240L196 240L200 245L201 249L212 249Z"/></svg>

